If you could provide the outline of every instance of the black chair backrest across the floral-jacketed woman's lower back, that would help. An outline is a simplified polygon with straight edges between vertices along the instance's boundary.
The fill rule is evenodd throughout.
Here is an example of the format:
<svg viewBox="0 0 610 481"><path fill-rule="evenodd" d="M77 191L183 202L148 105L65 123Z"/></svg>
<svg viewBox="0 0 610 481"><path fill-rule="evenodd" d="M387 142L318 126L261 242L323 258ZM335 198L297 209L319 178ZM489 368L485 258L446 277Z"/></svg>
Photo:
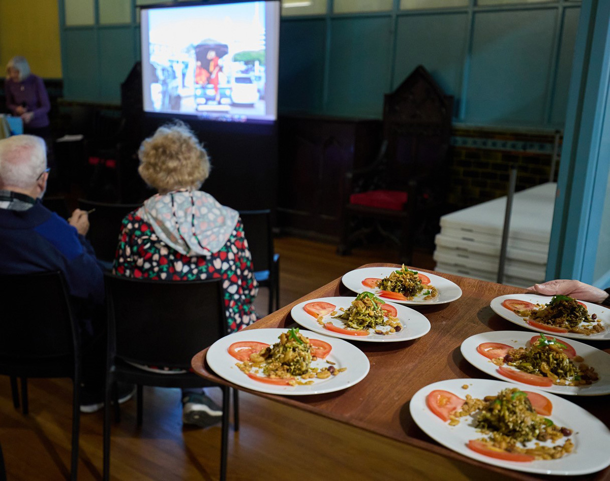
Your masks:
<svg viewBox="0 0 610 481"><path fill-rule="evenodd" d="M189 369L229 333L221 279L142 280L106 274L111 356Z"/></svg>

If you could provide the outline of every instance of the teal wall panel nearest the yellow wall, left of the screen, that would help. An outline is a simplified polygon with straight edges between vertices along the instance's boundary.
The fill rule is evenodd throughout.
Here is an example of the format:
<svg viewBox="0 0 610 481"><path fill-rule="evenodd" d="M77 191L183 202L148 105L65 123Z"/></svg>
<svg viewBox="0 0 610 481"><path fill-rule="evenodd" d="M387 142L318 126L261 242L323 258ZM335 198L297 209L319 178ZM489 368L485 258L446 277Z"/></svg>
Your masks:
<svg viewBox="0 0 610 481"><path fill-rule="evenodd" d="M63 96L98 101L97 36L93 29L69 29L62 35Z"/></svg>

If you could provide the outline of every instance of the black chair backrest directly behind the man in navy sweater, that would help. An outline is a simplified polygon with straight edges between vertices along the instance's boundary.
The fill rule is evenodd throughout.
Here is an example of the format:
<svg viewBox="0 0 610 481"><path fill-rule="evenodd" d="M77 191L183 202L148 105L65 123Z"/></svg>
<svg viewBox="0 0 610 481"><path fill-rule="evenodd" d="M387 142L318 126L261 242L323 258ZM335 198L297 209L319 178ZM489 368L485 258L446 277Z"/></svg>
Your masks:
<svg viewBox="0 0 610 481"><path fill-rule="evenodd" d="M78 327L59 272L2 274L0 358L31 361L78 351Z"/></svg>

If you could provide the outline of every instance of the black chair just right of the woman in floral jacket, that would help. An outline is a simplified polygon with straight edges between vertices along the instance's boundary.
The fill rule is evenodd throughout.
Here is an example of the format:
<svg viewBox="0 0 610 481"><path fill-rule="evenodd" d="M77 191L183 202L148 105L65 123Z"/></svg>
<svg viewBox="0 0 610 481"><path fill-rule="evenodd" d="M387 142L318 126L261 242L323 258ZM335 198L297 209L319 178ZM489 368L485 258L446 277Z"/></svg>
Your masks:
<svg viewBox="0 0 610 481"><path fill-rule="evenodd" d="M279 309L279 254L273 248L273 232L271 232L271 211L240 210L243 232L254 265L254 277L260 287L269 289L269 313L273 312L273 301L276 310Z"/></svg>

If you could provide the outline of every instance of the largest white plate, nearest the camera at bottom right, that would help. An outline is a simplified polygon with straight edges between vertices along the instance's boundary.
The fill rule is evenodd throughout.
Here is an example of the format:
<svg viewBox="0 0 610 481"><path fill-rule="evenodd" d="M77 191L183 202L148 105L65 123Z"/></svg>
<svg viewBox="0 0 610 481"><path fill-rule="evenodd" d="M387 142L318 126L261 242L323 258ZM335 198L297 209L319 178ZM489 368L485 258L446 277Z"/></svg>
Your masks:
<svg viewBox="0 0 610 481"><path fill-rule="evenodd" d="M462 389L462 385L468 385L468 388ZM473 397L481 399L484 396L493 396L501 390L511 387L519 386L487 379L449 379L439 381L417 391L411 398L409 409L417 426L422 428L428 436L443 446L482 463L500 466L501 468L515 469L517 471L534 472L537 474L559 474L562 476L589 474L600 471L600 469L610 465L610 456L608 456L610 430L608 430L608 427L580 406L554 394L543 393L534 388L528 388L528 391L542 394L551 401L553 413L548 417L555 424L573 430L571 437L574 443L574 450L562 458L548 461L505 461L478 454L468 448L467 443L470 440L481 438L483 435L476 432L474 426L469 426L472 424L468 422L469 416L461 418L458 426L449 426L448 422L442 421L426 406L426 396L431 391L437 389L449 391L462 398L466 394L470 394ZM533 446L534 442L530 441L528 446ZM560 442L565 442L565 438ZM552 446L552 444L550 445Z"/></svg>

